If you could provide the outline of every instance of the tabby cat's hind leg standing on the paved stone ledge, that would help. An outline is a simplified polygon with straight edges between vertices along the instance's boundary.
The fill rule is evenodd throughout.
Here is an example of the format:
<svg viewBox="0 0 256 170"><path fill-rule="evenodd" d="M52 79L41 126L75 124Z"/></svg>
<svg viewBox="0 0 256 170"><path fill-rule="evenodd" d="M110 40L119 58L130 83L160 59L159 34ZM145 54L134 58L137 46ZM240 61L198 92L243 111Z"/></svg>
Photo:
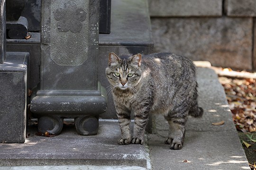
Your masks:
<svg viewBox="0 0 256 170"><path fill-rule="evenodd" d="M181 149L185 137L185 124L187 121L186 114L165 116L169 123L169 135L165 140L165 144L170 144L170 149Z"/></svg>

